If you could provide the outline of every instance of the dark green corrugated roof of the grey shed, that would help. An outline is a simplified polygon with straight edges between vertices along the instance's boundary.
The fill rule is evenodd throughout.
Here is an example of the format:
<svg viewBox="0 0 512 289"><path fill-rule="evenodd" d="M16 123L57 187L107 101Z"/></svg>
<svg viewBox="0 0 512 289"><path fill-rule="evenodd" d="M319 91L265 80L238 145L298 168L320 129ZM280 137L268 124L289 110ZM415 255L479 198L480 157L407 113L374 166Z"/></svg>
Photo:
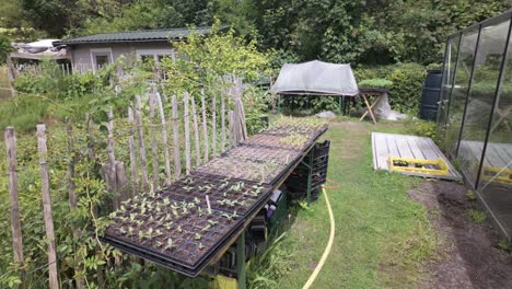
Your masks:
<svg viewBox="0 0 512 289"><path fill-rule="evenodd" d="M197 34L205 35L210 32L210 27L197 27L195 28L195 32ZM186 38L189 34L189 28L125 31L101 33L66 41L57 41L54 42L54 46L86 43L166 42L172 39L179 39L183 37Z"/></svg>

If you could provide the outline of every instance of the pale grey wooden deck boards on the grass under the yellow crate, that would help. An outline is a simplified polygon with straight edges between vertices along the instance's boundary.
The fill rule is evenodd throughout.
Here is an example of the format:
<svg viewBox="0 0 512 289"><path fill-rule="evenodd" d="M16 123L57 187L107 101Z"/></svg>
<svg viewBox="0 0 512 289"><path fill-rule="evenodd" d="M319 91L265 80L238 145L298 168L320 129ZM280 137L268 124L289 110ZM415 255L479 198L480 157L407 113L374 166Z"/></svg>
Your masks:
<svg viewBox="0 0 512 289"><path fill-rule="evenodd" d="M441 158L449 165L449 175L420 174L410 172L400 172L400 174L452 181L458 181L462 178L461 174L453 167L452 163L450 163L446 157L444 157L438 146L435 146L435 143L430 138L372 132L372 150L373 169L375 170L389 171L389 157L419 160L439 160Z"/></svg>

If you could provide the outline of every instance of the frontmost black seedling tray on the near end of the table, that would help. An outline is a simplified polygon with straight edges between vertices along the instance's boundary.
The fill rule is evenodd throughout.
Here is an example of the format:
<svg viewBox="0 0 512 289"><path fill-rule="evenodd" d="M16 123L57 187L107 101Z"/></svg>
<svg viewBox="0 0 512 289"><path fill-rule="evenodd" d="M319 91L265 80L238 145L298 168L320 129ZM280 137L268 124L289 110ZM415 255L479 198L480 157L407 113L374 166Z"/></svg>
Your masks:
<svg viewBox="0 0 512 289"><path fill-rule="evenodd" d="M103 239L170 266L196 269L243 221L222 211L201 212L196 204L185 201L160 203L160 209L146 211L148 205L141 204L150 199L155 200L143 195L136 203L125 203L123 212L110 215L113 223Z"/></svg>

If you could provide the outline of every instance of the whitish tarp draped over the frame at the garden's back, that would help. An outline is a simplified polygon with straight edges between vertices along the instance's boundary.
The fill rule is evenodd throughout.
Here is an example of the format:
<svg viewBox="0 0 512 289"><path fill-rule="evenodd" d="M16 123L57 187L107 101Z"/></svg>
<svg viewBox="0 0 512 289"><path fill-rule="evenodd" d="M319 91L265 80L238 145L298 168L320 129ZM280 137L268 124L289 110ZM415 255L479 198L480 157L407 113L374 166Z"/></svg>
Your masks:
<svg viewBox="0 0 512 289"><path fill-rule="evenodd" d="M346 95L359 94L350 65L314 60L304 63L286 63L271 88L279 94Z"/></svg>

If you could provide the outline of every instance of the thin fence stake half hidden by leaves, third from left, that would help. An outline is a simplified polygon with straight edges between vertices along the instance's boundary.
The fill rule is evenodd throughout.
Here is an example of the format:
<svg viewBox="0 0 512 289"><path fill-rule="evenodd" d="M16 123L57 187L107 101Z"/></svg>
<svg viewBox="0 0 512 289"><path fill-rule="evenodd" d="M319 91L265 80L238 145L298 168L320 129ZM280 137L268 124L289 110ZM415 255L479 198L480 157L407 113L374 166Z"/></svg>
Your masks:
<svg viewBox="0 0 512 289"><path fill-rule="evenodd" d="M73 126L72 126L72 120L68 120L68 126L66 127L66 134L68 136L68 155L69 155L69 161L68 161L68 171L66 174L66 177L68 178L68 195L69 195L69 208L71 211L74 211L77 209L78 205L78 198L77 198L77 186L74 185L74 163L77 162L77 158L74 157L74 143L73 143ZM74 229L73 230L73 239L78 240L80 238L80 229ZM79 259L77 258L77 255L74 257L74 261L79 263ZM81 266L78 267L78 269L81 269ZM83 278L75 278L77 281L77 289L84 288L84 282Z"/></svg>

